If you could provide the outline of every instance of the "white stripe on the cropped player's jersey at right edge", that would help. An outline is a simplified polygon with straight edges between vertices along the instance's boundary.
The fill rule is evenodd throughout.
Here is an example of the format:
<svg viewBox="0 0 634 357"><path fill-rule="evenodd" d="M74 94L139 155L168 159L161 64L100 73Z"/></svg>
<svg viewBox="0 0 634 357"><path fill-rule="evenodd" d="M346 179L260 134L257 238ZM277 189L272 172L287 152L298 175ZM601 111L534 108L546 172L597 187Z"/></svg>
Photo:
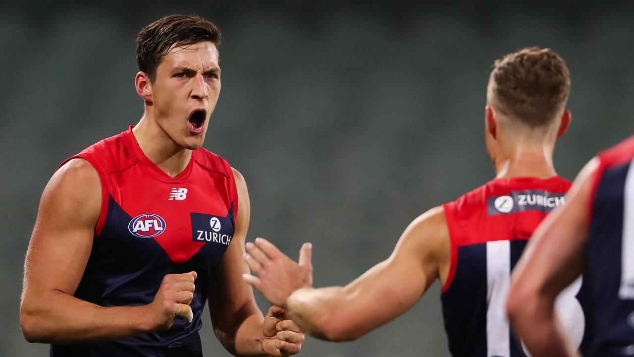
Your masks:
<svg viewBox="0 0 634 357"><path fill-rule="evenodd" d="M621 299L634 299L634 172L631 161L623 192L623 246L621 246Z"/></svg>

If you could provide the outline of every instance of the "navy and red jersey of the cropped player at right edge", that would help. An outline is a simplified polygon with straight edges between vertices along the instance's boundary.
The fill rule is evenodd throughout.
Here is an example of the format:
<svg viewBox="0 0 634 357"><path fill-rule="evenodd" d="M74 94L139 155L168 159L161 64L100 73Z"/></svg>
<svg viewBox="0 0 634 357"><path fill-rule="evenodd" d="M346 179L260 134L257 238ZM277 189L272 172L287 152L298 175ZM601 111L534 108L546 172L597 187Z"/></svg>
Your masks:
<svg viewBox="0 0 634 357"><path fill-rule="evenodd" d="M634 355L634 137L598 154L584 276L593 356Z"/></svg>

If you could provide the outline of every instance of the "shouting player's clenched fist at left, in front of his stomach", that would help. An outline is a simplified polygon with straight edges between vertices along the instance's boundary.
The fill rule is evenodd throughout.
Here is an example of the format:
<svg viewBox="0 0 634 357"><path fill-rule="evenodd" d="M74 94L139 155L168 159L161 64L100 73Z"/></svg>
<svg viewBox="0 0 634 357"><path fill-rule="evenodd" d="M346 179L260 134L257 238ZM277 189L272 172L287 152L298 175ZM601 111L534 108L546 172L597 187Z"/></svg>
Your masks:
<svg viewBox="0 0 634 357"><path fill-rule="evenodd" d="M191 323L193 313L190 303L196 288L196 276L195 271L165 275L154 301L147 306L153 330L167 330L174 323L176 316L181 316Z"/></svg>

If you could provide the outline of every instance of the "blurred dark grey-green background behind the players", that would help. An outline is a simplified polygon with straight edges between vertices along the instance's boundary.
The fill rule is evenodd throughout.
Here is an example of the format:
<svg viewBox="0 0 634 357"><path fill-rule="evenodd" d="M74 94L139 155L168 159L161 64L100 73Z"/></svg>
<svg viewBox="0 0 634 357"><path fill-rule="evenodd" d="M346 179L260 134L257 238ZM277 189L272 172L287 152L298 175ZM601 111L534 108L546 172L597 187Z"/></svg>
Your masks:
<svg viewBox="0 0 634 357"><path fill-rule="evenodd" d="M3 1L0 356L48 355L25 342L18 316L39 196L60 161L138 121L134 39L170 13L223 30L205 147L247 179L249 240L269 238L294 258L313 242L316 286L353 280L417 215L493 177L485 89L505 53L538 45L567 60L563 177L634 133L632 1ZM205 355L228 356L205 322ZM448 356L439 285L365 337L309 338L301 355Z"/></svg>

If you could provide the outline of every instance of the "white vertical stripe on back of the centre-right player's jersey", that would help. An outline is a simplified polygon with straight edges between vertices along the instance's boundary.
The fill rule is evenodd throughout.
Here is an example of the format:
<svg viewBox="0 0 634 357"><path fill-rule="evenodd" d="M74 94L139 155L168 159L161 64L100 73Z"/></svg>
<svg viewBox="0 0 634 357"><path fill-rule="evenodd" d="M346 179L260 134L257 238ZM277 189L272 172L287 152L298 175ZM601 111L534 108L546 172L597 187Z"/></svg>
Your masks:
<svg viewBox="0 0 634 357"><path fill-rule="evenodd" d="M510 241L486 243L486 355L508 357L510 336L506 312L511 270Z"/></svg>

